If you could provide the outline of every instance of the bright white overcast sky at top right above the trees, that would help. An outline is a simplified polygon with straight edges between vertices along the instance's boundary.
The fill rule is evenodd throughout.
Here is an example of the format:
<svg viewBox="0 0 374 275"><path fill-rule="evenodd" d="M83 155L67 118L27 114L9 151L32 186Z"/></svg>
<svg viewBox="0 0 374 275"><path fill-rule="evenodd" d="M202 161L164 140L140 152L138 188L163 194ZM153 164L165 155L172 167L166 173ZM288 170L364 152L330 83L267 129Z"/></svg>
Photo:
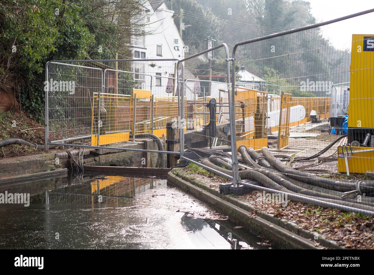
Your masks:
<svg viewBox="0 0 374 275"><path fill-rule="evenodd" d="M307 0L317 22L374 9L373 0ZM322 27L323 34L339 49L350 49L352 34L374 34L374 12Z"/></svg>

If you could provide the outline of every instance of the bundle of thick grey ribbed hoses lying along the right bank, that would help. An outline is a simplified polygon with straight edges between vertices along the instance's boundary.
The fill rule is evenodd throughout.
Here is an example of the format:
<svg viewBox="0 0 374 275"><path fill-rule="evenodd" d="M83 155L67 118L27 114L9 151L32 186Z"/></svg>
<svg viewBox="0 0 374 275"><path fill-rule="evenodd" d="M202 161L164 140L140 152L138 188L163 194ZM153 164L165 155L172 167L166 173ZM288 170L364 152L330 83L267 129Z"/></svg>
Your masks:
<svg viewBox="0 0 374 275"><path fill-rule="evenodd" d="M247 150L245 146L240 146L238 151L245 163L239 164L239 168L242 169L239 170L239 176L242 179L255 180L269 189L315 199L321 202L315 204L322 207L328 207L328 203L331 203L374 213L374 181L316 177L286 166L271 155L266 147L261 149L263 157L252 148ZM201 162L210 168L232 175L230 161L229 158L211 156L203 158ZM344 192L352 192L355 196L351 197ZM357 199L356 195L361 195L360 199ZM300 198L294 200L309 203Z"/></svg>

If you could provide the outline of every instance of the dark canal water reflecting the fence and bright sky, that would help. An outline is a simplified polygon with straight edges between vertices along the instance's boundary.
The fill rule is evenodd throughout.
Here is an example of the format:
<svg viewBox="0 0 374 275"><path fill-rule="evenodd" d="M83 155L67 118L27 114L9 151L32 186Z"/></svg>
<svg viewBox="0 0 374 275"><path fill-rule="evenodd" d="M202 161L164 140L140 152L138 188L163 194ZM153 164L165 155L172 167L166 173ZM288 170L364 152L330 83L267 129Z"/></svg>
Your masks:
<svg viewBox="0 0 374 275"><path fill-rule="evenodd" d="M0 185L0 249L272 249L166 179L68 175Z"/></svg>

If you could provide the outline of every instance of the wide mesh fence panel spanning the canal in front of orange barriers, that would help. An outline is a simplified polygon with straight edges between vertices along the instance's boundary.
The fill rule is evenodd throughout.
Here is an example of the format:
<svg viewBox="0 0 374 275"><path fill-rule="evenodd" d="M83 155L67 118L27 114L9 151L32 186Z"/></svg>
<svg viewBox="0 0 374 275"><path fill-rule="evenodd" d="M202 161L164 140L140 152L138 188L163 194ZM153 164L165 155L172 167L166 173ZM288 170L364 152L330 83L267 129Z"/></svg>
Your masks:
<svg viewBox="0 0 374 275"><path fill-rule="evenodd" d="M159 144L156 138L166 135L167 122L178 120L176 63L174 59L47 63L46 144L116 147L113 144L135 138L153 138ZM153 132L157 137L150 136Z"/></svg>

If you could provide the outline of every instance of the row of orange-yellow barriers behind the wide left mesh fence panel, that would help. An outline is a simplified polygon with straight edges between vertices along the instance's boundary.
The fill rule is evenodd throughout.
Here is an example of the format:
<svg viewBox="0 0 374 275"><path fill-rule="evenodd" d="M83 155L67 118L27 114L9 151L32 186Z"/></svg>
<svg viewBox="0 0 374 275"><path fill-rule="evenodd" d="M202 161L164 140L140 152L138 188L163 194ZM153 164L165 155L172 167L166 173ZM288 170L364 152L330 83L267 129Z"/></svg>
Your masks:
<svg viewBox="0 0 374 275"><path fill-rule="evenodd" d="M187 101L185 102L187 109L186 103ZM129 141L135 105L135 135L154 134L162 137L164 134L166 136L166 123L174 121L177 126L179 121L178 97L154 97L148 90L134 89L132 97L101 93L100 122L97 121L98 93L93 94L92 105L92 146L97 146L98 125L100 125L99 145Z"/></svg>

